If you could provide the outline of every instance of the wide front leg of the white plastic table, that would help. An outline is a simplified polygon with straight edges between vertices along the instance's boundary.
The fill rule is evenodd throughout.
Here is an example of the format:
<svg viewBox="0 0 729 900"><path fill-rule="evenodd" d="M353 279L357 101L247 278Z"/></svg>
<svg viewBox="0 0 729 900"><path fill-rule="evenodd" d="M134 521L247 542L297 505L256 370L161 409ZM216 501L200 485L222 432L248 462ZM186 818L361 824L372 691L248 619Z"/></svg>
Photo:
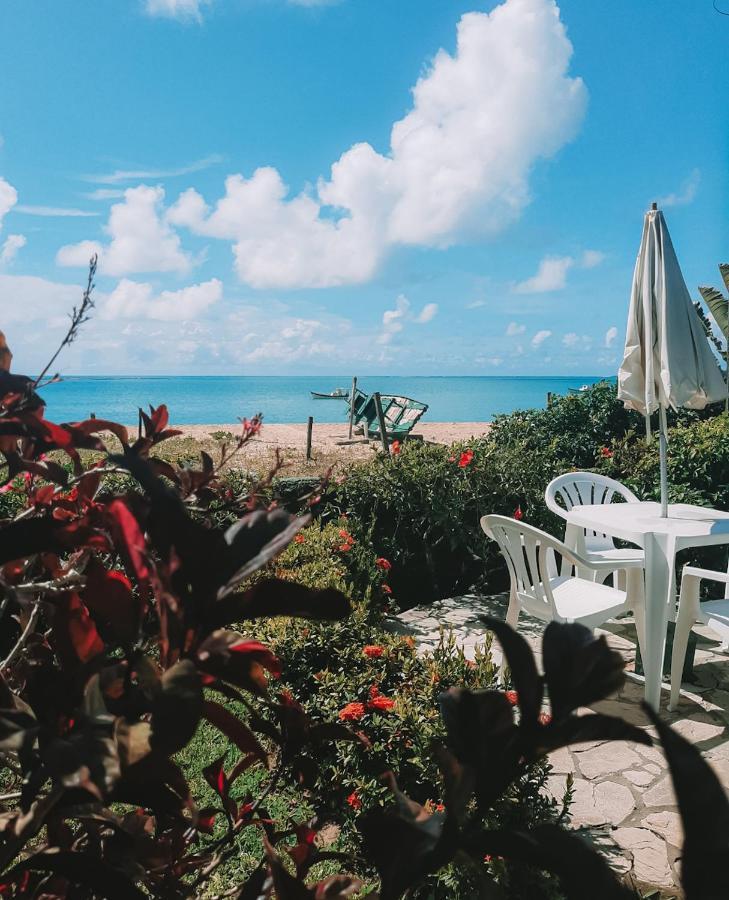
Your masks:
<svg viewBox="0 0 729 900"><path fill-rule="evenodd" d="M646 535L645 543L645 699L658 711L663 680L668 610L674 588L675 540Z"/></svg>

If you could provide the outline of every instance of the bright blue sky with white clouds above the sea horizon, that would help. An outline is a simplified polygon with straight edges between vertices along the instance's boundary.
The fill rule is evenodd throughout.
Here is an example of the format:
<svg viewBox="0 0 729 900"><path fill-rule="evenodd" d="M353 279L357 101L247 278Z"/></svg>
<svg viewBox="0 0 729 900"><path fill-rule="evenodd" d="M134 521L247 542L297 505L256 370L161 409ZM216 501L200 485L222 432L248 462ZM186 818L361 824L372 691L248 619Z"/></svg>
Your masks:
<svg viewBox="0 0 729 900"><path fill-rule="evenodd" d="M0 328L35 372L613 374L642 215L727 257L711 0L3 0Z"/></svg>

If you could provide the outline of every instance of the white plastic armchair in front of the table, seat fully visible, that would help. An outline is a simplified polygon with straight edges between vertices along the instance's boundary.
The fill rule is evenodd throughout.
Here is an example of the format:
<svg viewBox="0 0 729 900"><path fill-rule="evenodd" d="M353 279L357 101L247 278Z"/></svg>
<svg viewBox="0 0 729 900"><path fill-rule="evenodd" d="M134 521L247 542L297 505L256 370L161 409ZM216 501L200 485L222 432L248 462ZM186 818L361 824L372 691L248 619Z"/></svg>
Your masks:
<svg viewBox="0 0 729 900"><path fill-rule="evenodd" d="M543 621L579 622L590 629L620 613L632 611L642 649L645 634L642 560L589 560L546 531L507 516L483 516L481 527L498 543L509 568L511 588L506 621L512 628L516 628L522 608ZM561 569L557 567L557 556L562 559ZM573 574L585 570L614 571L616 562L627 572L626 590Z"/></svg>

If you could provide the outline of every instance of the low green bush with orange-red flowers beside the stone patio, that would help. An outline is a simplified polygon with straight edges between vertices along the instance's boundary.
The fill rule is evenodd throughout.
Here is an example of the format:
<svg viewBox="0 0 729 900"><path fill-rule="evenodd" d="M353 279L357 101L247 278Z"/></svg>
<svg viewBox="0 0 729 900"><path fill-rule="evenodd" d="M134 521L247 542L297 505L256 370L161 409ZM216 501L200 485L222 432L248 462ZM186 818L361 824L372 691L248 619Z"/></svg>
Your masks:
<svg viewBox="0 0 729 900"><path fill-rule="evenodd" d="M432 808L441 804L441 776L432 753L433 742L444 737L438 698L456 685L494 686L490 638L484 632L483 648L475 660L467 660L448 634L432 654L419 655L411 638L387 630L388 603L397 599L388 585L394 567L376 555L367 531L352 519L306 528L276 560L274 571L312 587L346 589L355 601L353 614L343 622L302 627L293 620L272 620L261 623L257 634L281 659L280 691L311 716L338 719L360 737L358 743L340 743L318 755L317 803L309 811L334 826L335 851L359 854L359 817L390 802L384 772L395 772L402 790L417 802ZM355 588L365 583L364 590ZM487 823L530 828L558 818L562 808L544 791L547 771L546 763L531 767L490 811ZM514 896L530 896L536 883L540 896L556 890L542 873L500 860L486 865ZM359 874L374 880L364 862ZM477 872L450 867L413 896L466 900L476 896L477 884Z"/></svg>

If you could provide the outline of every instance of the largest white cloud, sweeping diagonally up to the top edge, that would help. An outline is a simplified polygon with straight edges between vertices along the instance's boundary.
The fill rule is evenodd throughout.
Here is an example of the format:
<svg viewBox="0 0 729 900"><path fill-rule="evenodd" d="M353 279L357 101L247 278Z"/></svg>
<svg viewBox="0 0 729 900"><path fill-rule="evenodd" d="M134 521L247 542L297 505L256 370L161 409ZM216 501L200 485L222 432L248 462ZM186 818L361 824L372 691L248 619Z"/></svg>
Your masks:
<svg viewBox="0 0 729 900"><path fill-rule="evenodd" d="M187 191L169 220L233 241L240 279L259 288L362 283L397 245L494 234L529 202L536 161L582 120L587 92L567 74L571 56L553 0L467 13L455 55L439 51L419 79L387 155L355 144L294 197L276 169L231 175L212 210Z"/></svg>

